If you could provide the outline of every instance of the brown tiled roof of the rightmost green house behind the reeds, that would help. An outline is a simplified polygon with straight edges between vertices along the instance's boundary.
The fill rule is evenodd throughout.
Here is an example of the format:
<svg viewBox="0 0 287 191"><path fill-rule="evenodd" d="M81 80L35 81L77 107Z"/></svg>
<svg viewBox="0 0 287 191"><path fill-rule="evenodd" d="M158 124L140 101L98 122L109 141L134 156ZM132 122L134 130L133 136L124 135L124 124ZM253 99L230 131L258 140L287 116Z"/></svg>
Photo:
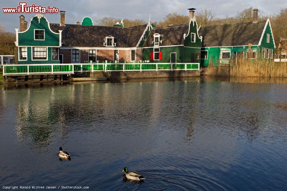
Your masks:
<svg viewBox="0 0 287 191"><path fill-rule="evenodd" d="M249 42L259 44L266 20L257 23L241 22L231 24L209 25L201 27L199 36L203 37L202 47L242 46Z"/></svg>

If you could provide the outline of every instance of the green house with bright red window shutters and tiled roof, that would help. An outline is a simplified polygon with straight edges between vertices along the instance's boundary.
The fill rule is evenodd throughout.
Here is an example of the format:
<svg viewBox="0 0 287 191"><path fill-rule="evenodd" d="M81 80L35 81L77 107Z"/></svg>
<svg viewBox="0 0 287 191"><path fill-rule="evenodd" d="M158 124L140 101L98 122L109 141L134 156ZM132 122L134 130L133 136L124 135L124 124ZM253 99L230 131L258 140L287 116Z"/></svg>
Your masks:
<svg viewBox="0 0 287 191"><path fill-rule="evenodd" d="M202 37L199 37L197 27L195 17L188 25L154 27L143 46L143 60L152 63L199 63Z"/></svg>

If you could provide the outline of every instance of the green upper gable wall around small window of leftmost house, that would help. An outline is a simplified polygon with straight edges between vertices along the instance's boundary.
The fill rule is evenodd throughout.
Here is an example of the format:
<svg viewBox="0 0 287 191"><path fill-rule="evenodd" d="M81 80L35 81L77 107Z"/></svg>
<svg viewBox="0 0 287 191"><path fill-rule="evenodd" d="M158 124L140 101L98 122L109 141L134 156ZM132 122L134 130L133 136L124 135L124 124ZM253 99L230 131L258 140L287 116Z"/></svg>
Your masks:
<svg viewBox="0 0 287 191"><path fill-rule="evenodd" d="M30 25L27 31L18 33L18 45L19 46L59 46L59 34L53 33L49 29L48 21L42 17L40 23L38 18L33 17L30 21ZM34 29L45 30L45 40L34 40Z"/></svg>

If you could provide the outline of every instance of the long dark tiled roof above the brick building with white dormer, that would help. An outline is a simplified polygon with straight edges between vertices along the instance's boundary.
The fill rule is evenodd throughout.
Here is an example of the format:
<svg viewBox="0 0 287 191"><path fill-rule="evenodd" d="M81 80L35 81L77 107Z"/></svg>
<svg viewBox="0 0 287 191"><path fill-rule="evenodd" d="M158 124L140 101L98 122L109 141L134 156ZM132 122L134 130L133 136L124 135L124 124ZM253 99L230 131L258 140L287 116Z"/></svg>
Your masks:
<svg viewBox="0 0 287 191"><path fill-rule="evenodd" d="M54 32L62 31L63 47L104 47L106 36L115 37L117 48L135 47L147 24L133 27L108 27L51 23ZM136 42L135 42L136 41Z"/></svg>

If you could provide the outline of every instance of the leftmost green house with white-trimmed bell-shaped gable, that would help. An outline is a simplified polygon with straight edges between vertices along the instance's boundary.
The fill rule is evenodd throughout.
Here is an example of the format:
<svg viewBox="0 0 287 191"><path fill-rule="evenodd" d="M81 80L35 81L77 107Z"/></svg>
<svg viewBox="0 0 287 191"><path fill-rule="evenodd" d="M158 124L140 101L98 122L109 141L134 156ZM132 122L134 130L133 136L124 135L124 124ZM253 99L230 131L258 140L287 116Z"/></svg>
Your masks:
<svg viewBox="0 0 287 191"><path fill-rule="evenodd" d="M42 14L30 20L28 29L16 30L18 64L58 64L61 30L54 32L49 21Z"/></svg>

